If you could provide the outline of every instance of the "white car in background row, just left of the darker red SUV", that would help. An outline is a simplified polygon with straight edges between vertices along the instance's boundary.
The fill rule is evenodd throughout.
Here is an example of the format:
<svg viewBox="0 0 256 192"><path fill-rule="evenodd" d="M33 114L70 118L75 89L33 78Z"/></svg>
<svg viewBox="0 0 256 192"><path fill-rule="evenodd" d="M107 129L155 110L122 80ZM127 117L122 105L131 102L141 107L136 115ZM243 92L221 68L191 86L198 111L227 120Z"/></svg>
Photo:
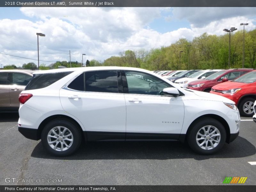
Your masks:
<svg viewBox="0 0 256 192"><path fill-rule="evenodd" d="M196 81L197 79L205 79L206 77L208 77L208 76L212 75L213 73L216 73L217 71L220 71L220 70L221 69L208 69L208 70L198 71L198 72L192 74L191 76L177 79L175 81L175 83L179 84L179 86L182 88L186 88L190 82Z"/></svg>

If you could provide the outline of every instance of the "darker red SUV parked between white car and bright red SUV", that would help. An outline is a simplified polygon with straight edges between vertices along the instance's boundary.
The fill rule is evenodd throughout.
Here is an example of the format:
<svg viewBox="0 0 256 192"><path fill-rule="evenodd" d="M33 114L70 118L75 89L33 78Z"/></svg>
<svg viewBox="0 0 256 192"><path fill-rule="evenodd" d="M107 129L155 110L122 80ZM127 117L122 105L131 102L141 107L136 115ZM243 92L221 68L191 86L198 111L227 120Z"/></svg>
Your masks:
<svg viewBox="0 0 256 192"><path fill-rule="evenodd" d="M253 69L226 69L218 71L205 79L198 79L188 84L188 89L196 91L210 92L214 85L223 83L225 81L231 81L245 73L252 71Z"/></svg>

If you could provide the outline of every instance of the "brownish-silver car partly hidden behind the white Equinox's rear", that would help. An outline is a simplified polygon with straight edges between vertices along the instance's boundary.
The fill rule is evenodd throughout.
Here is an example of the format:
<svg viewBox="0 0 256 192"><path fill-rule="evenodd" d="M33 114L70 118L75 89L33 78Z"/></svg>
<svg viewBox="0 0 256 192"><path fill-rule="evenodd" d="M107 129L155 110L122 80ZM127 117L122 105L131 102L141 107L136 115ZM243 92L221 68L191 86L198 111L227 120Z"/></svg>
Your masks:
<svg viewBox="0 0 256 192"><path fill-rule="evenodd" d="M17 112L19 94L33 77L32 70L0 70L0 112Z"/></svg>

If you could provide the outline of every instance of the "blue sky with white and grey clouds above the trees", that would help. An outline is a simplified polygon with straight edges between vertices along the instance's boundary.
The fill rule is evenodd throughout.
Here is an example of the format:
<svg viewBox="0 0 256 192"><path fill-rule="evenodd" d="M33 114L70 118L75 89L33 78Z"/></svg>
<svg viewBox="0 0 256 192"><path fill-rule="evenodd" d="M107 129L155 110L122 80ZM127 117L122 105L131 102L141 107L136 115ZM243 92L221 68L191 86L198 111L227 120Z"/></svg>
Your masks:
<svg viewBox="0 0 256 192"><path fill-rule="evenodd" d="M0 67L39 60L103 62L126 50L192 41L204 32L225 35L224 28L256 27L255 7L0 7ZM238 31L237 30L237 31ZM236 32L236 31L235 31ZM234 32L234 33L235 33ZM15 55L34 60L13 57ZM50 62L47 62L50 61ZM1 66L2 65L2 66Z"/></svg>

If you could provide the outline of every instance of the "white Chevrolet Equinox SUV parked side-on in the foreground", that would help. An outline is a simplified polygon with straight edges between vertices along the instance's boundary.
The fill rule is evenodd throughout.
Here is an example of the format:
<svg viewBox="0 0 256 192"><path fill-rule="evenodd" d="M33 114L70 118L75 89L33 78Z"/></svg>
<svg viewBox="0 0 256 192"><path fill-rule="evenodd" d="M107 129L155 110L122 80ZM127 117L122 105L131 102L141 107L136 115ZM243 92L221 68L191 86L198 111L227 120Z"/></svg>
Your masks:
<svg viewBox="0 0 256 192"><path fill-rule="evenodd" d="M20 97L19 131L56 156L85 141L180 140L212 154L239 134L235 103L182 89L148 70L65 68L33 74Z"/></svg>

